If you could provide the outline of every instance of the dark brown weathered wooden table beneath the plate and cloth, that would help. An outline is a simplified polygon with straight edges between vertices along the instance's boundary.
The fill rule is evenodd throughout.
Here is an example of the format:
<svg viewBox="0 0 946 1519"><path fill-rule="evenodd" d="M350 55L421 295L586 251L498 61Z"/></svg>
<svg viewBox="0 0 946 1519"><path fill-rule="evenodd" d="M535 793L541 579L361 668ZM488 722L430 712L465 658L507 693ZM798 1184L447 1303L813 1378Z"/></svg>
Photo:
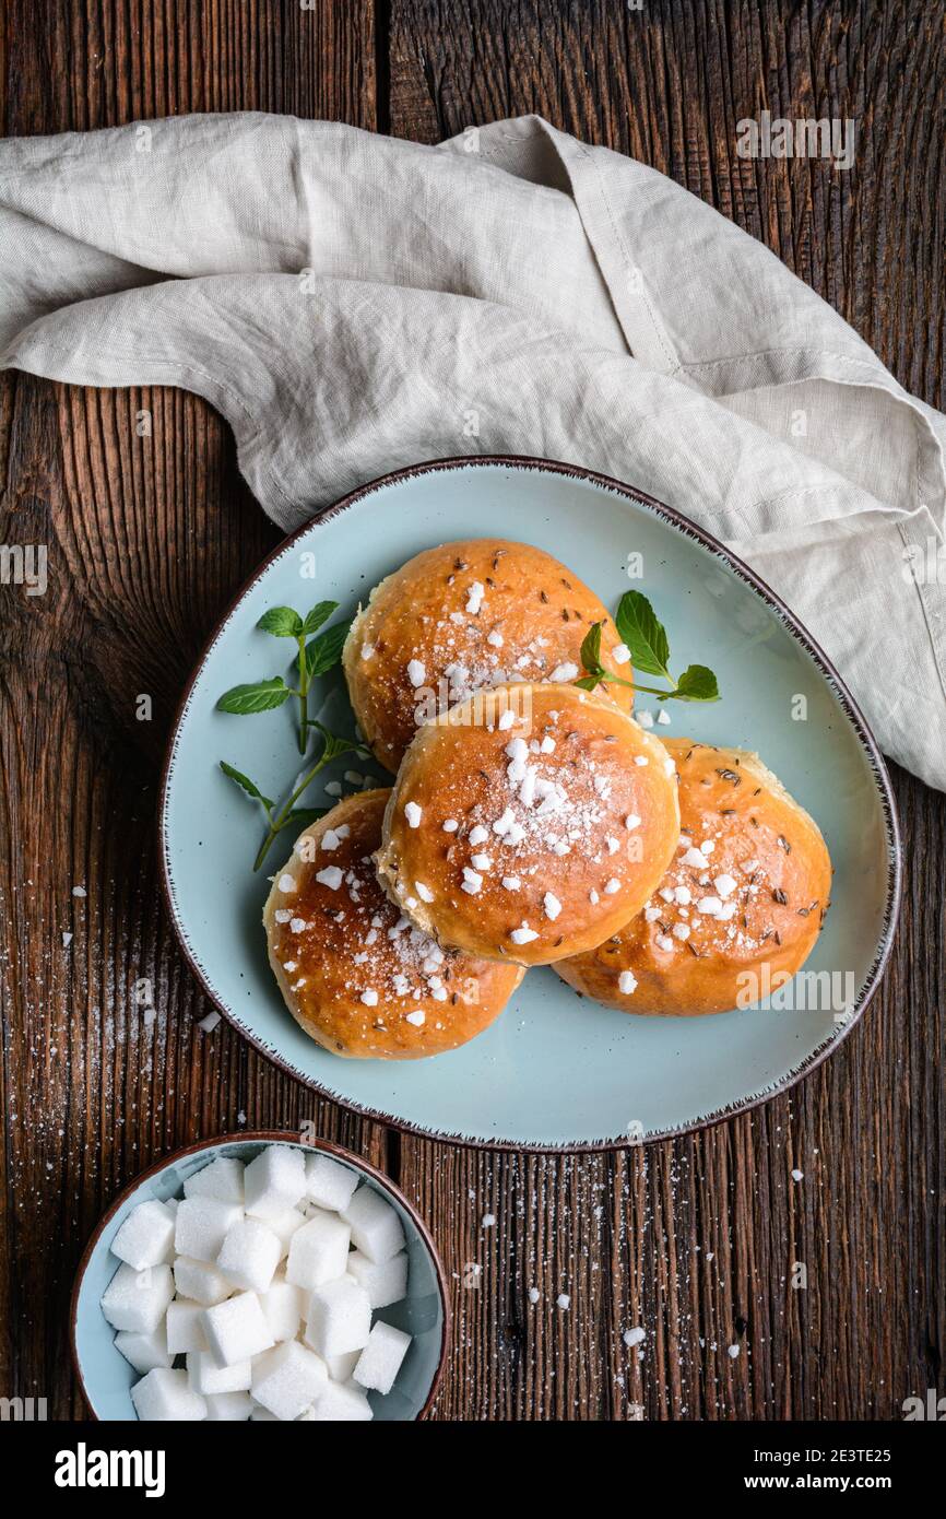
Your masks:
<svg viewBox="0 0 946 1519"><path fill-rule="evenodd" d="M2 112L35 134L278 111L433 143L538 111L733 217L941 404L944 23L943 0L11 0ZM856 167L739 159L735 123L764 108L855 117ZM896 773L908 875L885 984L791 1095L568 1159L361 1123L226 1022L197 1027L208 1006L158 889L175 702L278 538L232 439L179 390L8 375L0 396L0 542L49 545L44 597L0 589L0 1394L79 1416L71 1274L129 1177L196 1136L305 1118L386 1167L440 1243L457 1329L440 1419L875 1419L943 1391L941 797ZM642 1356L623 1341L635 1325Z"/></svg>

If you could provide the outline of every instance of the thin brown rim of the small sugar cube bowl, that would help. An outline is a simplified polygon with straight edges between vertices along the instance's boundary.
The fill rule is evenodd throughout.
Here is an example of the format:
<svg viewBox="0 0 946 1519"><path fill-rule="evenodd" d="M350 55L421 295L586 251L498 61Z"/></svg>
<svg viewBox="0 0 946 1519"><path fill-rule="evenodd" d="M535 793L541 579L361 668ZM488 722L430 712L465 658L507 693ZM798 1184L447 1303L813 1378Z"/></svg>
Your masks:
<svg viewBox="0 0 946 1519"><path fill-rule="evenodd" d="M181 1150L173 1150L170 1154L166 1154L161 1161L155 1161L153 1165L149 1165L147 1170L144 1171L138 1171L138 1174L132 1177L132 1180L126 1186L121 1188L118 1195L102 1214L99 1223L93 1229L88 1238L88 1244L85 1246L85 1250L79 1258L79 1265L76 1267L76 1277L73 1282L73 1291L68 1305L68 1347L73 1358L73 1370L76 1373L76 1381L79 1382L79 1390L82 1393L91 1420L94 1423L102 1422L93 1407L93 1401L85 1387L85 1378L82 1375L82 1366L79 1361L79 1346L76 1343L76 1331L79 1318L79 1290L82 1287L82 1277L85 1276L88 1262L93 1258L93 1250L99 1244L105 1226L121 1208L121 1205L128 1200L128 1197L134 1191L137 1191L137 1188L143 1182L149 1179L149 1176L158 1176L161 1171L166 1171L169 1167L175 1165L176 1161L182 1161L188 1154L199 1154L202 1150L216 1150L225 1144L244 1144L248 1141L252 1144L292 1144L298 1150L323 1150L326 1154L334 1154L339 1157L339 1161L346 1161L357 1171L364 1173L364 1176L371 1176L374 1182L377 1182L390 1197L395 1198L396 1203L401 1205L404 1212L412 1220L415 1229L418 1230L418 1235L421 1236L421 1241L427 1247L430 1259L433 1261L434 1276L437 1279L437 1293L440 1296L440 1308L443 1312L443 1325L440 1332L440 1358L437 1361L437 1370L434 1372L433 1381L430 1384L427 1402L424 1404L421 1413L418 1414L418 1419L427 1419L430 1410L433 1408L433 1402L434 1397L437 1396L440 1382L443 1379L443 1370L446 1367L453 1314L449 1308L449 1294L446 1291L446 1271L443 1270L443 1261L440 1259L440 1252L437 1250L433 1241L430 1229L421 1218L421 1214L418 1212L415 1205L404 1195L401 1188L396 1186L395 1182L392 1182L390 1176L386 1176L384 1171L380 1171L378 1167L372 1165L371 1161L366 1161L363 1156L355 1154L354 1150L345 1150L340 1144L336 1144L334 1139L298 1139L295 1133L281 1129L251 1129L244 1133L217 1135L213 1139L196 1139L194 1144L184 1145Z"/></svg>

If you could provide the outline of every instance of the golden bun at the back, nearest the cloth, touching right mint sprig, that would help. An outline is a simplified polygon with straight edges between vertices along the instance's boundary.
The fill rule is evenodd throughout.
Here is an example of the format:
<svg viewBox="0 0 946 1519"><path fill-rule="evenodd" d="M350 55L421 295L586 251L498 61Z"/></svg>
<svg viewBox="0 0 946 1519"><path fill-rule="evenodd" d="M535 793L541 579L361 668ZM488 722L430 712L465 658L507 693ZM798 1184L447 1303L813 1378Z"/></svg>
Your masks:
<svg viewBox="0 0 946 1519"><path fill-rule="evenodd" d="M601 664L630 681L630 664L613 659L623 646L607 609L557 559L501 538L427 548L372 591L345 643L358 728L393 775L419 723L472 691L547 681L562 665L580 674L592 623L603 624ZM627 687L609 685L607 694L630 711Z"/></svg>

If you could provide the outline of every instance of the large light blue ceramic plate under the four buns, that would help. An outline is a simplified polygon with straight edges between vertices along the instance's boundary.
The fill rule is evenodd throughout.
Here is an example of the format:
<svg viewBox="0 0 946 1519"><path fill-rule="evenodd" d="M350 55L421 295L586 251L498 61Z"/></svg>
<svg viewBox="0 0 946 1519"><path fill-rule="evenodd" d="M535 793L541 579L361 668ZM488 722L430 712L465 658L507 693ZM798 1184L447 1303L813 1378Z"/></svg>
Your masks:
<svg viewBox="0 0 946 1519"><path fill-rule="evenodd" d="M633 583L665 623L676 662L717 671L723 700L670 703L673 726L661 732L758 750L821 826L835 866L834 905L805 969L834 972L834 980L823 978L825 992L805 998L823 1004L818 1010L793 1010L788 987L776 998L779 1007L635 1018L580 1001L544 969L528 972L486 1033L430 1060L336 1059L292 1019L260 925L267 883L251 872L260 819L217 761L231 761L270 796L284 794L296 772L293 714L281 708L231 717L216 711L217 697L279 668L275 641L257 630L266 608L333 598L340 602L337 615L349 617L412 554L472 536L548 550L612 609ZM644 576L630 582L635 554ZM351 722L337 674L325 709L333 722ZM805 720L797 720L799 711ZM340 761L333 775L345 769ZM310 805L325 802L322 779ZM674 512L629 486L541 460L445 460L387 475L278 548L225 615L185 694L161 828L184 951L217 1007L254 1044L310 1086L386 1123L516 1148L665 1136L791 1086L864 1010L888 952L899 896L884 764L841 681L791 614ZM287 837L285 849L273 851L273 870L290 848Z"/></svg>

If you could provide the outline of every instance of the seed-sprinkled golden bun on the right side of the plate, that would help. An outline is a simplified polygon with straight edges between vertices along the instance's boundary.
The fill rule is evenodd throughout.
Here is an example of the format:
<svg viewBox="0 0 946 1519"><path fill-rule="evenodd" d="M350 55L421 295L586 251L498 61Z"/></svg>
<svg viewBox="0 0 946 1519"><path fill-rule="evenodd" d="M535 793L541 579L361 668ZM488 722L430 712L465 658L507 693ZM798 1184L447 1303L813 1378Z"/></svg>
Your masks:
<svg viewBox="0 0 946 1519"><path fill-rule="evenodd" d="M831 895L828 849L758 755L691 738L664 743L680 776L677 857L644 913L556 969L575 990L626 1013L695 1018L747 1007L808 958ZM702 854L708 840L714 848L700 869L689 851ZM708 899L723 917L698 911ZM621 972L636 987L621 992Z"/></svg>

